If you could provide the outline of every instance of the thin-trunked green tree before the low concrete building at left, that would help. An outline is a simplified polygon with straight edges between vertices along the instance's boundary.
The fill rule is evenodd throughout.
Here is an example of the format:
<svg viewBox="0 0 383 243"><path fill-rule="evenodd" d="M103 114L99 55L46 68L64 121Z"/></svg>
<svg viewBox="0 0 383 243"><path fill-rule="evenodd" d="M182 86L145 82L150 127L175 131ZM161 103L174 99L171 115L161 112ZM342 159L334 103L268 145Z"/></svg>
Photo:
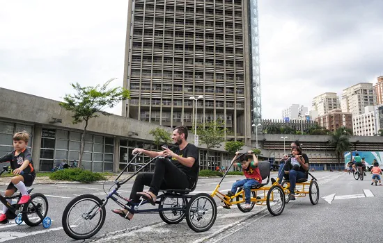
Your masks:
<svg viewBox="0 0 383 243"><path fill-rule="evenodd" d="M73 113L72 123L79 124L85 121L84 129L81 134L81 146L79 154L78 167L81 166L82 155L84 153L84 136L88 127L89 119L101 115L110 115L105 112L106 108L113 108L120 101L130 99L130 91L123 87L114 87L108 89L108 85L114 81L114 78L109 79L104 85L81 87L79 83L70 83L74 94L65 94L64 102L60 102L60 106L65 110Z"/></svg>

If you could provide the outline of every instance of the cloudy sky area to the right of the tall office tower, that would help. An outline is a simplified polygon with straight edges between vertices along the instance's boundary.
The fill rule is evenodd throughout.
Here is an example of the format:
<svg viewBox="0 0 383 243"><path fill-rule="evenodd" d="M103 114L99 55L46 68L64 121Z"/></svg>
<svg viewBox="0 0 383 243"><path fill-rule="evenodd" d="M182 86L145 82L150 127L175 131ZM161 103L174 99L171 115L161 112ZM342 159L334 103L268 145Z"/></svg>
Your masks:
<svg viewBox="0 0 383 243"><path fill-rule="evenodd" d="M263 118L382 74L382 1L258 4Z"/></svg>

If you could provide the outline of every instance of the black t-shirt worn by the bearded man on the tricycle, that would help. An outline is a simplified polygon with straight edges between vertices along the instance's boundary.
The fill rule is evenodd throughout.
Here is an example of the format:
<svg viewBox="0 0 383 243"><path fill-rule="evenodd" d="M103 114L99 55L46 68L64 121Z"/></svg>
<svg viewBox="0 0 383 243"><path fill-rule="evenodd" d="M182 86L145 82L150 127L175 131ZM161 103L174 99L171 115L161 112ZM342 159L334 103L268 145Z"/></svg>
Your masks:
<svg viewBox="0 0 383 243"><path fill-rule="evenodd" d="M187 175L187 177L189 178L190 186L192 187L192 185L194 185L194 183L196 182L196 178L198 177L199 161L197 147L194 144L187 144L182 150L180 150L179 146L176 146L175 148L172 148L171 151L173 151L175 154L178 154L178 156L181 156L182 158L193 157L194 159L196 159L192 167L187 167L185 165L182 165L175 158L171 158L171 162L173 162L173 164L177 166L178 169L180 169Z"/></svg>

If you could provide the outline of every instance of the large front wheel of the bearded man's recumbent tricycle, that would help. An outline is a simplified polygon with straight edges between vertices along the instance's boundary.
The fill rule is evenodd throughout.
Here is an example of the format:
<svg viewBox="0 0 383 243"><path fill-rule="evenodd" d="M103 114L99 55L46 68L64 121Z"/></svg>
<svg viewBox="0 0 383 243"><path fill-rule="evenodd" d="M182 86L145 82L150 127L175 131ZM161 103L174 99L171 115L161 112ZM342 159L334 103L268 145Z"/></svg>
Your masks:
<svg viewBox="0 0 383 243"><path fill-rule="evenodd" d="M70 221L69 221L70 213L72 212L72 209L75 208L75 206L77 206L78 203L81 203L81 201L86 201L86 200L92 201L93 203L95 203L95 207L91 210L91 212L93 212L93 210L97 210L98 211L97 214L100 214L100 219L98 220L96 226L93 229L91 229L91 231L88 231L86 233L78 233L75 230L79 227L73 226L70 224ZM92 194L84 194L84 195L75 197L75 199L72 199L72 201L70 201L68 205L65 207L65 210L63 212L63 218L61 221L61 223L63 224L63 230L65 231L65 233L69 237L72 237L75 240L85 240L97 234L98 231L100 231L100 229L104 225L104 221L107 216L107 211L105 210L105 207L100 208L102 206L102 203L103 201L99 197ZM86 212L86 213L90 215L91 212ZM97 216L97 214L95 215L95 217ZM84 213L81 214L81 217L83 218L85 217ZM88 220L88 219L85 219L85 220Z"/></svg>

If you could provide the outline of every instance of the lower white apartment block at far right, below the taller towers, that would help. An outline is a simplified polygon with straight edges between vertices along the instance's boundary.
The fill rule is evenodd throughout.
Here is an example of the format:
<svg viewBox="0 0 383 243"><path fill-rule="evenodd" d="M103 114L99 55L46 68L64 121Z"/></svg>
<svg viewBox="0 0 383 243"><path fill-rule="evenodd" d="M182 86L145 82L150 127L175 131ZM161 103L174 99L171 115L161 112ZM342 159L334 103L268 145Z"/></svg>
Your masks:
<svg viewBox="0 0 383 243"><path fill-rule="evenodd" d="M377 133L377 114L374 106L366 106L364 114L352 116L352 130L357 136L373 136Z"/></svg>

